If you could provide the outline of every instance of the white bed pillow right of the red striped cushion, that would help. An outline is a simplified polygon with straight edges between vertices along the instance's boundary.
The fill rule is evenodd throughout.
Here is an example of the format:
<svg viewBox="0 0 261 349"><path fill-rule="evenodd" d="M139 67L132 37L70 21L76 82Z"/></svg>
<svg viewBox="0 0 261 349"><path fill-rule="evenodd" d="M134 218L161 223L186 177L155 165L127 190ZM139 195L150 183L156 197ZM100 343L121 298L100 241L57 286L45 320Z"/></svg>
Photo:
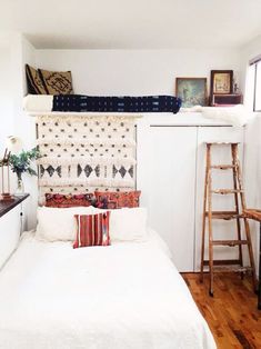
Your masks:
<svg viewBox="0 0 261 349"><path fill-rule="evenodd" d="M145 241L148 240L147 209L122 208L111 210L110 238L111 241Z"/></svg>

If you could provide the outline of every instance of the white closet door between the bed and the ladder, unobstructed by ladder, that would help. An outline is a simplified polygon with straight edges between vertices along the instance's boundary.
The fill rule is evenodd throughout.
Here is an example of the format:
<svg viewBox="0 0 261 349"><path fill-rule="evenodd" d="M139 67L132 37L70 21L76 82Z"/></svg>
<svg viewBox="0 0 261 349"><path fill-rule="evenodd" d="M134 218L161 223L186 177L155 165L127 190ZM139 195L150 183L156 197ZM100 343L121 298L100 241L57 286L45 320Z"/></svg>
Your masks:
<svg viewBox="0 0 261 349"><path fill-rule="evenodd" d="M150 127L149 226L179 271L193 270L197 127Z"/></svg>

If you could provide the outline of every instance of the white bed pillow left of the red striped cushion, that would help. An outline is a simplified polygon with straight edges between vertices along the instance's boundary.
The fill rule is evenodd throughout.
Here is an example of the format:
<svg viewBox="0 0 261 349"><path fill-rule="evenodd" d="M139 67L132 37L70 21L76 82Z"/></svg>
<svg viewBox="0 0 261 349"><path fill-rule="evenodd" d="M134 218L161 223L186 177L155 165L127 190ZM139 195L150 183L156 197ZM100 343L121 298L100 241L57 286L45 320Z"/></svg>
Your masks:
<svg viewBox="0 0 261 349"><path fill-rule="evenodd" d="M74 215L91 215L94 208L38 208L38 226L36 237L47 241L74 241L77 225Z"/></svg>

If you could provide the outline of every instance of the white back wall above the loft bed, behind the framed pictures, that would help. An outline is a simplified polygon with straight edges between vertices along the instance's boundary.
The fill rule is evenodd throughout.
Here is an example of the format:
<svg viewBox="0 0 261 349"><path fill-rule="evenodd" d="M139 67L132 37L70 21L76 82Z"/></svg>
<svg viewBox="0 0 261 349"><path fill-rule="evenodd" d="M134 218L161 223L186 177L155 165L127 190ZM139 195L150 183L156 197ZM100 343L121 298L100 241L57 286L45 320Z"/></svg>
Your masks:
<svg viewBox="0 0 261 349"><path fill-rule="evenodd" d="M173 94L175 77L207 77L233 69L238 50L37 50L37 66L71 70L74 91L84 94ZM208 83L209 84L209 83Z"/></svg>

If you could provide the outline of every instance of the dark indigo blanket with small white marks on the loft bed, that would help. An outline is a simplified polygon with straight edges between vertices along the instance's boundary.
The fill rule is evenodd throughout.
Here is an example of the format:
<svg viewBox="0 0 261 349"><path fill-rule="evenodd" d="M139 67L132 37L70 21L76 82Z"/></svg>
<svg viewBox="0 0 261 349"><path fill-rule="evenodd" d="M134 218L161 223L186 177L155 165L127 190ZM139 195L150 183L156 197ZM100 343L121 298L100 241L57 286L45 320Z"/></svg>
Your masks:
<svg viewBox="0 0 261 349"><path fill-rule="evenodd" d="M91 97L59 94L53 97L52 111L100 112L173 112L181 107L181 99L173 96Z"/></svg>

